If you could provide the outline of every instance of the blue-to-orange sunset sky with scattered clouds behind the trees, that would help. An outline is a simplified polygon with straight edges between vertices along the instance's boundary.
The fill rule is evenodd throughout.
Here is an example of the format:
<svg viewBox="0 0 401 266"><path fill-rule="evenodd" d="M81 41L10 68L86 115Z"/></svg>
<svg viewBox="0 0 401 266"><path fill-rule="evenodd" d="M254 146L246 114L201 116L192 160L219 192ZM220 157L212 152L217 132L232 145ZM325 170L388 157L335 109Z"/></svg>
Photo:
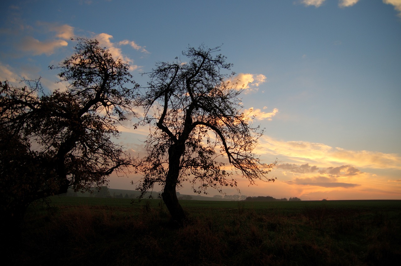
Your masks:
<svg viewBox="0 0 401 266"><path fill-rule="evenodd" d="M221 46L265 128L256 148L273 182L237 179L246 196L401 199L401 0L3 0L0 80L48 90L76 41L97 39L145 86L156 62ZM141 150L148 128L120 128ZM135 188L138 177L109 178ZM232 189L225 193L237 194ZM209 190L210 196L218 194ZM186 185L181 194L193 194Z"/></svg>

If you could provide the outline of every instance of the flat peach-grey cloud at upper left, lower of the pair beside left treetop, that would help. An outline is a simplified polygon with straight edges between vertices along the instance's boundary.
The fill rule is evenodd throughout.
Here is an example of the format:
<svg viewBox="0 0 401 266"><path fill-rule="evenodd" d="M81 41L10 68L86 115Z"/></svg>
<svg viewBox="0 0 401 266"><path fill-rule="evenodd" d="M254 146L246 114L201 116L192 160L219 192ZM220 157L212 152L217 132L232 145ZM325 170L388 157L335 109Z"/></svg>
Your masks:
<svg viewBox="0 0 401 266"><path fill-rule="evenodd" d="M20 48L26 52L32 52L33 55L54 54L57 48L67 46L68 42L65 40L47 40L41 42L33 37L27 36L22 39Z"/></svg>

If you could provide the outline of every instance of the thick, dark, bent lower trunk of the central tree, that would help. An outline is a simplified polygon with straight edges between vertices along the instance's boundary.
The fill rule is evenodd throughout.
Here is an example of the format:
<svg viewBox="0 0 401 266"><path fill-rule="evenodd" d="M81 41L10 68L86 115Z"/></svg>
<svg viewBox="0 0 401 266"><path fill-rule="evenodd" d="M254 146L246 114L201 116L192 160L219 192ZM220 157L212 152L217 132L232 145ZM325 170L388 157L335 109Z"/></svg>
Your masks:
<svg viewBox="0 0 401 266"><path fill-rule="evenodd" d="M168 149L169 168L162 193L163 201L170 212L172 220L176 222L178 226L183 226L188 221L184 210L178 202L176 194L176 186L180 174L180 158L183 152L184 145L182 144L172 144Z"/></svg>

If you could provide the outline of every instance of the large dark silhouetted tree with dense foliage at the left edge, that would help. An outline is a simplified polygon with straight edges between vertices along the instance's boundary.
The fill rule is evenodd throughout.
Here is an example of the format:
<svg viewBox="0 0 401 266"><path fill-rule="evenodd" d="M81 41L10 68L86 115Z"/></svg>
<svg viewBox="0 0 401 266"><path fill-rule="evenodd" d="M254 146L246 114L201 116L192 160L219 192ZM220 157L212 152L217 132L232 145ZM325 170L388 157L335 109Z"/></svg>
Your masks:
<svg viewBox="0 0 401 266"><path fill-rule="evenodd" d="M2 223L18 224L38 199L107 184L114 170L133 164L115 144L117 125L133 112L138 85L128 64L96 40L78 39L60 70L64 90L46 93L40 80L1 83L0 197Z"/></svg>

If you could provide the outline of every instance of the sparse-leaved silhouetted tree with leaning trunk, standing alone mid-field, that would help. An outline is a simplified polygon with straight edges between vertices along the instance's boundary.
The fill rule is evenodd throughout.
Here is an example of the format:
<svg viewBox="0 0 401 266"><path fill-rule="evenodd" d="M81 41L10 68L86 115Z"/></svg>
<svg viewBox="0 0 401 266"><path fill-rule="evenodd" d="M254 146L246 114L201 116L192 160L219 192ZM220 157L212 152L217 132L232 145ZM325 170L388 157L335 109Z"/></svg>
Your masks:
<svg viewBox="0 0 401 266"><path fill-rule="evenodd" d="M178 203L176 188L192 183L196 193L225 186L237 188L234 173L251 184L274 181L265 175L272 164L263 164L253 153L263 133L252 118L241 113L238 98L243 87L231 82L234 73L223 74L231 64L217 48L188 48L172 63L160 62L148 73L150 82L138 105L144 107L145 122L154 130L146 140L148 155L141 163L142 192L163 187L162 198L172 219L182 225L186 214ZM229 170L225 164L231 165Z"/></svg>

